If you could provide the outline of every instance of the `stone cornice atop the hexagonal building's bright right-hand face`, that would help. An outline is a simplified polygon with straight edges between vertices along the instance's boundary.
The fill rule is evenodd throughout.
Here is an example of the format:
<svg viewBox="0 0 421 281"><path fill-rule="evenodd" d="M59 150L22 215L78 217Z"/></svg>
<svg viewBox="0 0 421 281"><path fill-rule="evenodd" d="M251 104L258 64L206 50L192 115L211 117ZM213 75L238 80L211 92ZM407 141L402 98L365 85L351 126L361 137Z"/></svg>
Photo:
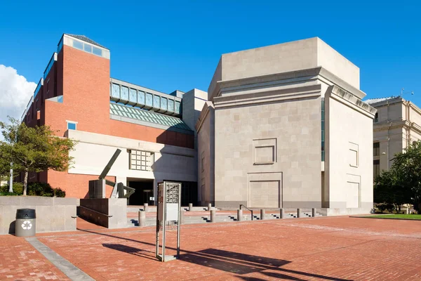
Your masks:
<svg viewBox="0 0 421 281"><path fill-rule="evenodd" d="M326 94L330 96L330 98L333 98L334 100L337 100L338 102L347 105L348 107L351 107L358 112L361 112L363 115L366 115L371 119L374 118L375 112L377 112L374 107L364 103L352 93L349 93L338 86L330 86Z"/></svg>

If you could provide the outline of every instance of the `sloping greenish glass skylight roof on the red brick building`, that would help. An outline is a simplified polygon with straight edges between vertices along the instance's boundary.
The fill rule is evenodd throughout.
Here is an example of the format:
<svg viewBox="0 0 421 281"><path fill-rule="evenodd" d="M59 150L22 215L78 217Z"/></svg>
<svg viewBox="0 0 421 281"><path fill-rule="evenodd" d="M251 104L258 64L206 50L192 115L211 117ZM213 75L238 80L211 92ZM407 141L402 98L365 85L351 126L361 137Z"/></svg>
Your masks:
<svg viewBox="0 0 421 281"><path fill-rule="evenodd" d="M180 118L161 115L152 111L141 110L136 107L119 105L118 103L109 103L109 113L112 115L119 115L121 117L138 119L144 122L192 131L192 129L190 129L189 126L187 126L187 124L185 124L185 122L183 122Z"/></svg>

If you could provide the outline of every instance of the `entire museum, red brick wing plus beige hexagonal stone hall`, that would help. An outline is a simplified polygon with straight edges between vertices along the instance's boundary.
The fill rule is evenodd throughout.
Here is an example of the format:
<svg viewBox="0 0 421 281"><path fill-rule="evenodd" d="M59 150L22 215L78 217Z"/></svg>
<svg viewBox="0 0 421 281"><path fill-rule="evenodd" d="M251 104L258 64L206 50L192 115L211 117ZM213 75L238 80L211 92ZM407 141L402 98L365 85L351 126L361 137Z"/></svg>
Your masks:
<svg viewBox="0 0 421 281"><path fill-rule="evenodd" d="M33 174L67 197L107 179L153 204L161 181L182 204L216 207L373 207L373 118L359 68L319 38L227 53L208 93L161 93L110 77L110 52L63 34L22 115L77 141L67 172ZM107 188L107 195L112 187Z"/></svg>

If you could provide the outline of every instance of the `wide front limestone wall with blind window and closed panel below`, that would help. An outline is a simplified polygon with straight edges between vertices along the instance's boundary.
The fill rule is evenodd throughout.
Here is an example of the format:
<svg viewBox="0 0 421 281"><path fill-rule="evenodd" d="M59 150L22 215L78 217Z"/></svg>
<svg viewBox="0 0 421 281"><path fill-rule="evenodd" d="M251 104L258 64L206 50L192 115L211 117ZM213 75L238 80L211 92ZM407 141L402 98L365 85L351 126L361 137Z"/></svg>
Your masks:
<svg viewBox="0 0 421 281"><path fill-rule="evenodd" d="M216 207L321 207L320 85L314 89L268 103L219 107L224 97L215 99Z"/></svg>

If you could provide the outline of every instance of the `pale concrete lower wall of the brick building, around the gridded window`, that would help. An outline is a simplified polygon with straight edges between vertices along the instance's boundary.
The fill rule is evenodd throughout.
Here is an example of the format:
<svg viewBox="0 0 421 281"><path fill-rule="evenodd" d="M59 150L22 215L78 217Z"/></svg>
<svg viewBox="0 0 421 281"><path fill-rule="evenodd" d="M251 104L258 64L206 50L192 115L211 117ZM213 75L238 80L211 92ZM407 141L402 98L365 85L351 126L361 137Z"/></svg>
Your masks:
<svg viewBox="0 0 421 281"><path fill-rule="evenodd" d="M70 153L74 157L74 165L69 169L69 174L100 175L119 148L121 153L108 173L108 176L116 177L118 182L126 184L127 178L155 179L156 182L163 179L197 181L197 158L193 149L83 131L69 131L69 138L78 141L76 149ZM129 169L128 150L131 149L154 153L152 171ZM79 196L85 197L86 192L88 192L88 182L86 190Z"/></svg>

